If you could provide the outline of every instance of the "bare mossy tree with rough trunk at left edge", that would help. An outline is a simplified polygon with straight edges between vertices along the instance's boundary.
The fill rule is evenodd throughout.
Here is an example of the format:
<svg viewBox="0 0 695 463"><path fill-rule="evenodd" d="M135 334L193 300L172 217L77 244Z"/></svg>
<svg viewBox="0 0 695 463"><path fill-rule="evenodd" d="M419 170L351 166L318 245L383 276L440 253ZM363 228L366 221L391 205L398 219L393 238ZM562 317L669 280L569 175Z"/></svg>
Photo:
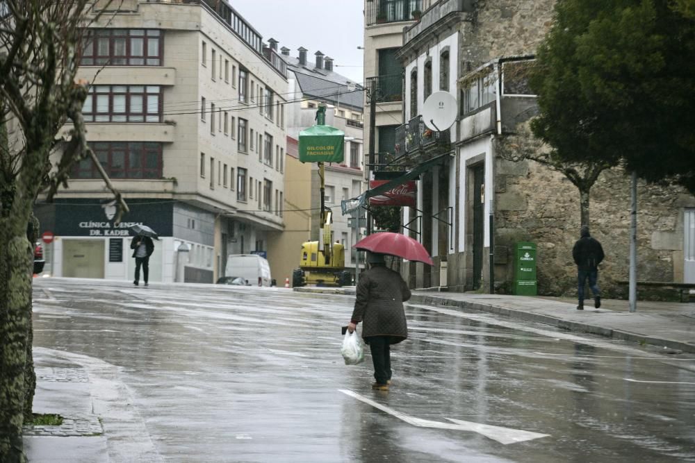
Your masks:
<svg viewBox="0 0 695 463"><path fill-rule="evenodd" d="M88 85L75 81L90 3L0 2L1 462L26 460L22 423L31 416L35 387L31 285L38 223L33 205L39 192L52 197L67 183L74 162L95 160L81 114ZM69 140L57 137L65 124L72 125ZM60 160L52 164L56 151Z"/></svg>

